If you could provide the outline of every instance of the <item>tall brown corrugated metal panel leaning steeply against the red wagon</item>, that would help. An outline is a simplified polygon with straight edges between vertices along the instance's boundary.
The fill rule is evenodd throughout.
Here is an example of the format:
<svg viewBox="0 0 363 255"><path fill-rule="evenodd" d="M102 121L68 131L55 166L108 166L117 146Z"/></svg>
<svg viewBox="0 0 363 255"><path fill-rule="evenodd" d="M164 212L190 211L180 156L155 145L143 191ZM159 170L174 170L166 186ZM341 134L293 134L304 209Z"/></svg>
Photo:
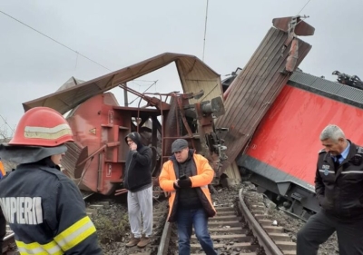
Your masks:
<svg viewBox="0 0 363 255"><path fill-rule="evenodd" d="M249 63L230 85L225 101L226 113L216 122L217 127L229 128L224 138L228 160L223 169L234 162L249 142L260 120L289 80L291 73L286 72L285 67L291 43L284 46L288 37L288 33L271 27ZM295 68L311 48L297 40L299 52ZM282 54L281 49L284 49Z"/></svg>

